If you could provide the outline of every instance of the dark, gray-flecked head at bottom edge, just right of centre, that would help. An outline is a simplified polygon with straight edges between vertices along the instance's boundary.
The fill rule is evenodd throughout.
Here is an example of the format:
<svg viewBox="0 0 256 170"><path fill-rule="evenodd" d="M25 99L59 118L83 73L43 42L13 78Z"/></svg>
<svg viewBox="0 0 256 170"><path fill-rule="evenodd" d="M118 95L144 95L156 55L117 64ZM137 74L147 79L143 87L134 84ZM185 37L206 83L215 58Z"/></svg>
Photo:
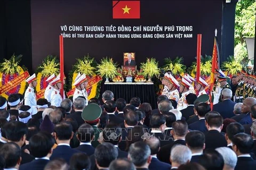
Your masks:
<svg viewBox="0 0 256 170"><path fill-rule="evenodd" d="M128 151L128 159L132 161L136 169L148 169L151 162L149 146L142 141L132 143Z"/></svg>

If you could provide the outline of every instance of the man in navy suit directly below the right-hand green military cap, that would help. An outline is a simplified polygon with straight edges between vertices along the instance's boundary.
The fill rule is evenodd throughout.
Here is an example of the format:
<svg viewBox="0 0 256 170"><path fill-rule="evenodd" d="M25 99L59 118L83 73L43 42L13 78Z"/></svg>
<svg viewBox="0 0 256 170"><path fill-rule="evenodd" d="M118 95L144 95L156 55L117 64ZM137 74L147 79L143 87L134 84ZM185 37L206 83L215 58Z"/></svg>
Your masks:
<svg viewBox="0 0 256 170"><path fill-rule="evenodd" d="M201 132L207 132L207 128L205 126L205 114L211 111L211 107L209 104L200 103L196 106L196 113L198 116L199 121L191 123L188 125L190 130L198 130Z"/></svg>

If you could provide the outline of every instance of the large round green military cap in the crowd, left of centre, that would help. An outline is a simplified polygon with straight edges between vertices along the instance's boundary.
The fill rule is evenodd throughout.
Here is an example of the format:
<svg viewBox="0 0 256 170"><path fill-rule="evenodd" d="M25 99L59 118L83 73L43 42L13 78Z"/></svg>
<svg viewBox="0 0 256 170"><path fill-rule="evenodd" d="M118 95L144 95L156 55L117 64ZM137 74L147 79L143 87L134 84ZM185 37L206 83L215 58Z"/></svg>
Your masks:
<svg viewBox="0 0 256 170"><path fill-rule="evenodd" d="M101 112L99 105L91 103L83 109L82 118L87 123L95 123L99 121Z"/></svg>

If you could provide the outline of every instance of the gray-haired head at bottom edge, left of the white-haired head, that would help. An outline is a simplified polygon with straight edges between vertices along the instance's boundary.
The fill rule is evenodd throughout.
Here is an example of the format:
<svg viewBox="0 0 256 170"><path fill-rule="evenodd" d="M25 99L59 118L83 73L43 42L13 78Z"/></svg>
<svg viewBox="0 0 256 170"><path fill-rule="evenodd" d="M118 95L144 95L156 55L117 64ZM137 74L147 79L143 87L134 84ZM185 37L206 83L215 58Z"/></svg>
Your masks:
<svg viewBox="0 0 256 170"><path fill-rule="evenodd" d="M175 145L172 147L170 162L172 163L171 169L178 169L180 165L189 163L192 157L192 152L187 146Z"/></svg>

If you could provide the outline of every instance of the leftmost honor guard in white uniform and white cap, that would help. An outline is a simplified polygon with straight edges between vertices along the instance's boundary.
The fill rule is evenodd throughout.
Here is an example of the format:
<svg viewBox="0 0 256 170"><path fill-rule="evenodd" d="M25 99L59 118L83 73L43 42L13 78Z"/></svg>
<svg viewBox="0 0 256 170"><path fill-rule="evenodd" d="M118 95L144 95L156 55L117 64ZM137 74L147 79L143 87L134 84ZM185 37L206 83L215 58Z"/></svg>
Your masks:
<svg viewBox="0 0 256 170"><path fill-rule="evenodd" d="M25 91L25 96L24 96L24 104L28 105L31 107L32 111L32 115L37 113L37 108L36 108L36 94L34 91L34 88L37 85L37 81L36 81L36 74L34 73L33 75L31 75L27 80L25 80L28 83L28 88Z"/></svg>

